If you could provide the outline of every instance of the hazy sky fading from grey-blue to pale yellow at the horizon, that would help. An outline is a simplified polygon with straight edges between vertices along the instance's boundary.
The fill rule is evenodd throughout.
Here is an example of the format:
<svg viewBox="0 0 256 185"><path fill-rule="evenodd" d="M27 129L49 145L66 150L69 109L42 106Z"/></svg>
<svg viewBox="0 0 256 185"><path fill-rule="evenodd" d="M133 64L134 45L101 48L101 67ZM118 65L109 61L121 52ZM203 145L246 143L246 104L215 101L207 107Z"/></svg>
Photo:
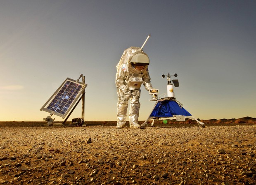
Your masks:
<svg viewBox="0 0 256 185"><path fill-rule="evenodd" d="M85 76L85 120L115 121L116 65L130 46L149 55L151 83L194 117L256 118L254 0L0 0L0 121L42 121L66 78ZM142 86L140 117L155 102ZM81 117L81 102L71 114ZM55 120L63 118L53 115Z"/></svg>

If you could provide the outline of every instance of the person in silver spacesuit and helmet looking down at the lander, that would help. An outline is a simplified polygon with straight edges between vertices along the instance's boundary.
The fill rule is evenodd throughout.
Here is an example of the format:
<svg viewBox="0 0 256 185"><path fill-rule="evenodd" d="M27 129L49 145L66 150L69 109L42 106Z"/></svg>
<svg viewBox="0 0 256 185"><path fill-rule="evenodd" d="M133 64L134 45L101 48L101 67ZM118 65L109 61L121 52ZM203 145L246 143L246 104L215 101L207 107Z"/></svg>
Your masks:
<svg viewBox="0 0 256 185"><path fill-rule="evenodd" d="M150 83L148 65L149 57L139 47L126 49L118 65L116 65L116 88L118 95L116 128L123 128L126 123L129 99L130 128L140 128L140 124L138 124L140 86L143 83L146 90L154 90Z"/></svg>

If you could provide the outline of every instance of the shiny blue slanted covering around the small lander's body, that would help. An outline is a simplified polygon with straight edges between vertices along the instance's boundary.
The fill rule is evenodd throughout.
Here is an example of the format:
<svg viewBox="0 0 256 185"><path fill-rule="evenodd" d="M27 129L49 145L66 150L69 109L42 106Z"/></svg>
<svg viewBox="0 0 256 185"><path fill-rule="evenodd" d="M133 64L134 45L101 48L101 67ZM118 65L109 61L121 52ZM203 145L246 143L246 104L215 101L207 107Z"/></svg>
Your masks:
<svg viewBox="0 0 256 185"><path fill-rule="evenodd" d="M177 102L163 100L156 103L150 117L171 118L173 115L192 116L183 107L180 108Z"/></svg>

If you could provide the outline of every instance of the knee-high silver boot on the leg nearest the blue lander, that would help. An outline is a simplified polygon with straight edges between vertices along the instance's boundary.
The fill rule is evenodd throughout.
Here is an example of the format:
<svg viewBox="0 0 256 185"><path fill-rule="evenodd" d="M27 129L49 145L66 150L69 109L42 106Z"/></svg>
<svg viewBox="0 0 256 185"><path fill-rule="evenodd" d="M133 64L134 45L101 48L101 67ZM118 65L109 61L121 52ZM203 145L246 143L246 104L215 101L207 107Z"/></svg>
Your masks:
<svg viewBox="0 0 256 185"><path fill-rule="evenodd" d="M139 118L139 111L140 111L140 103L133 100L130 102L130 114L129 114L129 121L130 121L130 128L140 128L140 124L138 124Z"/></svg>

